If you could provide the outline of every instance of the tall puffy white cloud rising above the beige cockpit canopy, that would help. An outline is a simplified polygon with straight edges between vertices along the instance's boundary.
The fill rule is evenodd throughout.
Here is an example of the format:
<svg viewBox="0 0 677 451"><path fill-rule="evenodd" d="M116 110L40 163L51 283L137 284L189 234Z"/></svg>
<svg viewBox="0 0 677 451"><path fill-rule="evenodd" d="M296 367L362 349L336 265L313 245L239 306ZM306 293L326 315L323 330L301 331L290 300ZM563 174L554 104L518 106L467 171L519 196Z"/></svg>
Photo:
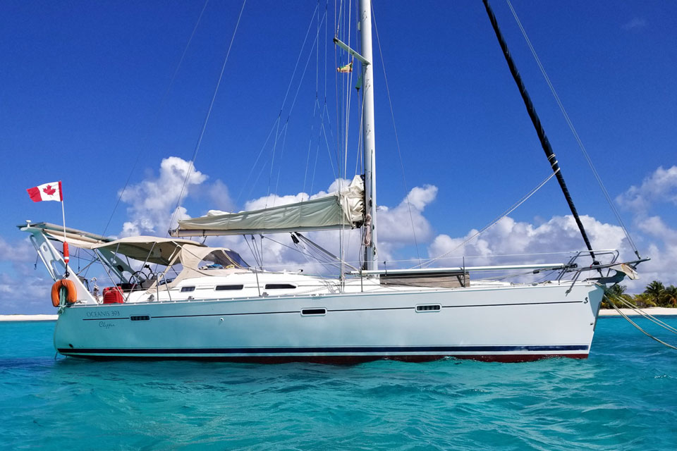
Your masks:
<svg viewBox="0 0 677 451"><path fill-rule="evenodd" d="M186 175L188 180L186 180ZM188 196L191 187L207 180L207 175L192 168L189 161L170 156L160 163L157 178L151 177L137 185L131 185L123 192L121 200L130 204L127 209L129 221L123 224L122 236L159 234L176 226L176 221L188 218L185 208L176 202L185 181L183 197ZM174 216L173 223L169 223Z"/></svg>

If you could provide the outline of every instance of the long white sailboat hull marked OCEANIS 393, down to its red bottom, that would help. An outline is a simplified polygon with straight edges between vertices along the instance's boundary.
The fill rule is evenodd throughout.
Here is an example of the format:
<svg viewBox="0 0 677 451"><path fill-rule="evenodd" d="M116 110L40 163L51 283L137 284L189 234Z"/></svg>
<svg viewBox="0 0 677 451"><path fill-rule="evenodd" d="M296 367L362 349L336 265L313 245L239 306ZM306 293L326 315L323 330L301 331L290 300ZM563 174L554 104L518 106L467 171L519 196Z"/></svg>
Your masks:
<svg viewBox="0 0 677 451"><path fill-rule="evenodd" d="M599 285L563 282L75 304L61 312L54 345L69 356L126 359L349 363L585 358L601 299ZM440 307L419 311L422 305Z"/></svg>

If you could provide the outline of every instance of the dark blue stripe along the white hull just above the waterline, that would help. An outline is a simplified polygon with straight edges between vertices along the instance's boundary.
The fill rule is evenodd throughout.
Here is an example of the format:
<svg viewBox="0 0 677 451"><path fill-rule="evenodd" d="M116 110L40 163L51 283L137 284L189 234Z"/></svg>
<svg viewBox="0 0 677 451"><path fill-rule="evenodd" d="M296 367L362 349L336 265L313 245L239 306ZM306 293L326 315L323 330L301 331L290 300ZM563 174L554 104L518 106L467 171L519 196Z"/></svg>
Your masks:
<svg viewBox="0 0 677 451"><path fill-rule="evenodd" d="M386 347L202 347L202 348L59 348L62 354L356 354L391 352L554 352L587 351L587 345L529 346L386 346Z"/></svg>

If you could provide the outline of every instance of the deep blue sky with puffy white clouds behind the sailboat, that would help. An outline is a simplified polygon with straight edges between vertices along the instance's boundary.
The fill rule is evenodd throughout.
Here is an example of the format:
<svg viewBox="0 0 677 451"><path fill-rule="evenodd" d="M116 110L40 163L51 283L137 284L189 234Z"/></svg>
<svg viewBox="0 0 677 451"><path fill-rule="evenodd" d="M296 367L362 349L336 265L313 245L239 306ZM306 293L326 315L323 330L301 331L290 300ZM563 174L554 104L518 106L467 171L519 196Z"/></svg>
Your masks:
<svg viewBox="0 0 677 451"><path fill-rule="evenodd" d="M652 259L630 291L654 279L676 284L677 4L512 4L640 254ZM633 258L508 4L492 6L593 247ZM175 217L294 202L360 172L356 76L338 77L348 57L331 44L338 28L357 47L355 4L249 0L238 23L241 8L2 2L0 314L52 312L51 280L16 226L61 223L61 206L33 203L29 187L62 180L67 226L164 236L194 155ZM555 180L463 244L547 178L549 165L480 1L375 0L373 11L379 261L406 266L451 251L482 264L584 249ZM347 144L338 140L346 130ZM331 233L315 239L336 247ZM267 243L267 263L300 264ZM241 238L208 244L253 260Z"/></svg>

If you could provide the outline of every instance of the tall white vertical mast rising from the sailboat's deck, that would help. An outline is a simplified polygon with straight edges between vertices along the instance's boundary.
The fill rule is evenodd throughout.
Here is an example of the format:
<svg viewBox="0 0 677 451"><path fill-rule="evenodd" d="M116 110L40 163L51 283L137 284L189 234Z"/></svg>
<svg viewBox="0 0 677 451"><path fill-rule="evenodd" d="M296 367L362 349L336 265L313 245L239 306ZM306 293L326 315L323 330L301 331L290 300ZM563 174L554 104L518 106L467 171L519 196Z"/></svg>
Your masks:
<svg viewBox="0 0 677 451"><path fill-rule="evenodd" d="M372 58L372 4L360 0L360 37L362 56L362 98L365 164L365 268L378 269L376 239L376 146L374 137L374 65Z"/></svg>

